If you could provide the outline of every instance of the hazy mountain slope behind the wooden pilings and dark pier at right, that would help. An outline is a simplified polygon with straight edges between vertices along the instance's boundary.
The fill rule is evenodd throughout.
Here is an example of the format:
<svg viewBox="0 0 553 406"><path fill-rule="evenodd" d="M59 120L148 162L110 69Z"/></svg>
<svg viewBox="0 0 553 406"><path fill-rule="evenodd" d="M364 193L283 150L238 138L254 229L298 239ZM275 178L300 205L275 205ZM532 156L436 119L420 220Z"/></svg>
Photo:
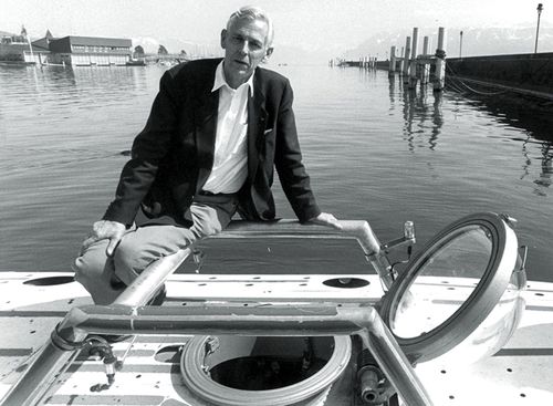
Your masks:
<svg viewBox="0 0 553 406"><path fill-rule="evenodd" d="M459 56L461 29L448 29L446 32L446 54L450 58ZM430 37L430 53L436 51L438 43L437 29L420 29L418 34L418 53L422 53L422 39ZM378 56L378 60L388 58L390 46L396 45L399 56L405 39L413 31L378 33L363 41L355 49L348 50L344 56L348 60L358 60L359 56ZM535 45L534 28L465 28L462 29L462 56L497 55L512 53L533 53ZM553 28L540 28L538 52L553 52Z"/></svg>

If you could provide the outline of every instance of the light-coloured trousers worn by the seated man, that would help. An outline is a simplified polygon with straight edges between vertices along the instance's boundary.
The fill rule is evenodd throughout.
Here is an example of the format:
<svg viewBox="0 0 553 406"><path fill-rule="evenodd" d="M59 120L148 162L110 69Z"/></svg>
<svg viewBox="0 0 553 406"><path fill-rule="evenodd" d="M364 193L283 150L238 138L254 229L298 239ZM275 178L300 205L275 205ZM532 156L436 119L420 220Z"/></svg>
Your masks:
<svg viewBox="0 0 553 406"><path fill-rule="evenodd" d="M236 212L234 195L199 196L187 211L190 228L175 226L133 227L123 236L113 257L107 257L108 240L90 246L75 260L75 280L96 304L111 304L152 262L194 242L220 232Z"/></svg>

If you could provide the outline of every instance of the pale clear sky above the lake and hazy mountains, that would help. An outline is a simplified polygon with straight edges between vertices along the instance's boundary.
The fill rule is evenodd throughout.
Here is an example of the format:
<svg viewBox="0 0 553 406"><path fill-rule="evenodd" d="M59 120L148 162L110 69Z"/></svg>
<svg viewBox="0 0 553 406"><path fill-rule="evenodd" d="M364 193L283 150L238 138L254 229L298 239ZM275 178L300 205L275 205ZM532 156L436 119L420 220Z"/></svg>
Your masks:
<svg viewBox="0 0 553 406"><path fill-rule="evenodd" d="M542 0L541 27L553 28L553 0ZM230 13L262 7L274 21L274 45L355 48L379 32L413 27L535 27L535 0L0 0L0 31L31 38L87 35L178 39L218 46Z"/></svg>

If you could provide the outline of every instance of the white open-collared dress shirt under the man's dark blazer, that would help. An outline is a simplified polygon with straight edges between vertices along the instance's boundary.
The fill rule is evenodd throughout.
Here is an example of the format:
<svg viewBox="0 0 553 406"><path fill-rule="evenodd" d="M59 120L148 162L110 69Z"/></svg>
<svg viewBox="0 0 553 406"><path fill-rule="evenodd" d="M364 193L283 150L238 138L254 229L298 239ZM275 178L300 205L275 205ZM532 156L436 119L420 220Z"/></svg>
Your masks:
<svg viewBox="0 0 553 406"><path fill-rule="evenodd" d="M253 75L237 90L225 79L222 61L217 66L211 92L219 90L215 157L204 190L212 194L238 191L248 177L248 91Z"/></svg>

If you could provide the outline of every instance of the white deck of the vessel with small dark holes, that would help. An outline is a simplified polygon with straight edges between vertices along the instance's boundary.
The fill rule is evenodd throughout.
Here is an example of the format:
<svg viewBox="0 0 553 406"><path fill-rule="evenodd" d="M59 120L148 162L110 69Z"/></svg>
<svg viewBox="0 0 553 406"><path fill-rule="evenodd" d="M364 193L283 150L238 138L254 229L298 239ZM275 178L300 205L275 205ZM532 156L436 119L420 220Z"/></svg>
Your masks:
<svg viewBox="0 0 553 406"><path fill-rule="evenodd" d="M52 329L65 313L72 306L91 304L87 293L76 282L54 285L29 282L71 275L1 274L0 397L17 382L23 369L20 365L49 340ZM177 274L167 283L168 300L164 305L182 306L200 298L236 299L237 292L244 303L290 301L292 298L375 303L383 295L376 275L363 277L371 283L356 289L336 289L323 283L336 275L285 275L284 281L283 277ZM474 364L437 358L416 366L415 372L435 405L553 404L553 283L529 282L523 295L526 309L519 329L495 355ZM178 364L175 358L170 360L188 340L178 335L144 335L114 344L115 355L124 357L124 367L117 372L115 384L102 392L91 388L106 383L103 364L92 358L77 358L61 376L46 404L204 405L184 385ZM160 352L161 348L165 350ZM171 399L178 403L170 403ZM315 403L335 404L328 402L323 396Z"/></svg>

